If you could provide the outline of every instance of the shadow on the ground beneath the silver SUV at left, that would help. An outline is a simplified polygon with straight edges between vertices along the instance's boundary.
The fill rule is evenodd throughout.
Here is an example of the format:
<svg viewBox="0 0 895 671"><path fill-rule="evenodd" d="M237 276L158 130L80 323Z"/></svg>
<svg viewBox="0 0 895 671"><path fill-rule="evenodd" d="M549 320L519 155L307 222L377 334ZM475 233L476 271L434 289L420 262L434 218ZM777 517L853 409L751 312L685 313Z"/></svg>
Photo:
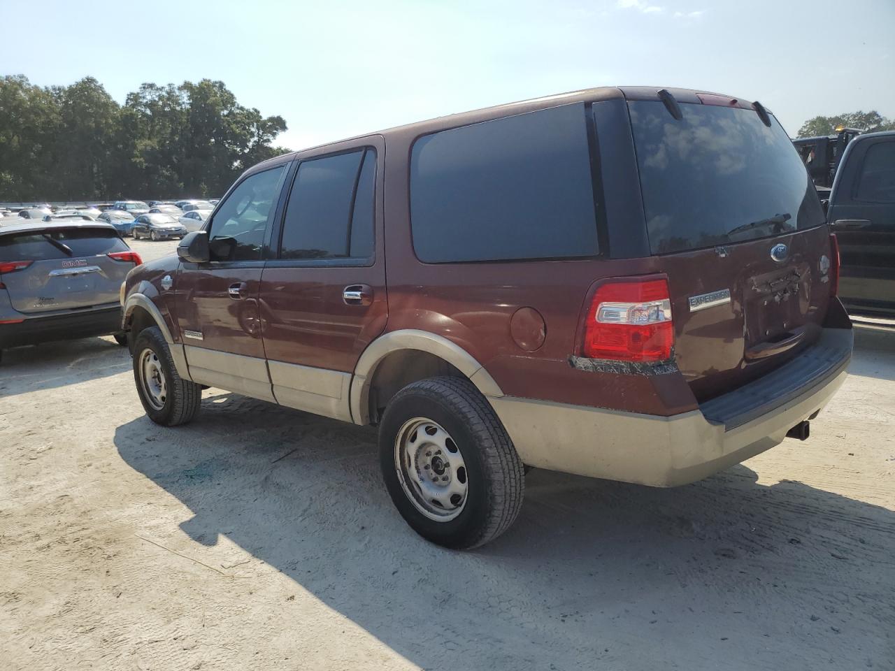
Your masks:
<svg viewBox="0 0 895 671"><path fill-rule="evenodd" d="M131 369L131 355L112 336L14 347L0 361L0 396L73 385Z"/></svg>

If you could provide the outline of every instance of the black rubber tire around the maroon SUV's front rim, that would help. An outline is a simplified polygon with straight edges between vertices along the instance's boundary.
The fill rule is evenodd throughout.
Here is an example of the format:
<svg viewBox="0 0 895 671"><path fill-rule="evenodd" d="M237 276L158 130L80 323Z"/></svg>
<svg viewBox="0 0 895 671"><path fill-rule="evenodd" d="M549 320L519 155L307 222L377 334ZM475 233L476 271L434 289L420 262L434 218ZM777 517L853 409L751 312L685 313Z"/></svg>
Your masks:
<svg viewBox="0 0 895 671"><path fill-rule="evenodd" d="M149 390L144 385L141 366L144 352L155 354L165 376L166 395L164 395L161 407L156 407L150 400ZM143 409L157 424L166 427L174 427L186 424L196 416L202 403L202 389L199 385L185 380L177 375L174 360L171 358L171 350L165 342L158 327L144 328L137 335L133 344L133 379L137 385L137 395Z"/></svg>

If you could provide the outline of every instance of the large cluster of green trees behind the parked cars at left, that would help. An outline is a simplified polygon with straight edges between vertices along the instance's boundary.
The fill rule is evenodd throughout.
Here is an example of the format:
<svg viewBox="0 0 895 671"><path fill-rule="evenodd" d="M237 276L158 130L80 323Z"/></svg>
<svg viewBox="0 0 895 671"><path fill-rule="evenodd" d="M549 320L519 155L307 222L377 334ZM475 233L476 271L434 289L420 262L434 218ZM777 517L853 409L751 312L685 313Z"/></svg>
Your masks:
<svg viewBox="0 0 895 671"><path fill-rule="evenodd" d="M119 105L93 77L39 87L0 78L0 201L220 196L286 153L281 116L240 105L223 81L143 84Z"/></svg>

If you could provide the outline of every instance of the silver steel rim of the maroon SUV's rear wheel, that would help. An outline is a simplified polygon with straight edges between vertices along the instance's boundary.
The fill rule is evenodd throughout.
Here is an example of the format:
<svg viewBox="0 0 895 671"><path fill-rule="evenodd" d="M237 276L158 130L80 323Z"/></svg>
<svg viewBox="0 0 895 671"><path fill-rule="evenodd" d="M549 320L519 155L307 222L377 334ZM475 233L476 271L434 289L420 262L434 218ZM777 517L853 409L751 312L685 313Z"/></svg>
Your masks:
<svg viewBox="0 0 895 671"><path fill-rule="evenodd" d="M405 496L430 520L449 522L463 512L469 493L466 464L438 422L425 417L405 421L395 439L395 471Z"/></svg>

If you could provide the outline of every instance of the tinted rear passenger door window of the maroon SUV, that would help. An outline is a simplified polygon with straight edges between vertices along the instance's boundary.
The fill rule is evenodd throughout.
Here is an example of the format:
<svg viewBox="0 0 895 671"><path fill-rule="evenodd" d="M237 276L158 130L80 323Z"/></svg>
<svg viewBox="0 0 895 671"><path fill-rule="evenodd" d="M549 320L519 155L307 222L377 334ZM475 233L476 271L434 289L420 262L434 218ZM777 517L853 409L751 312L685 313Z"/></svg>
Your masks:
<svg viewBox="0 0 895 671"><path fill-rule="evenodd" d="M280 259L367 259L373 251L376 152L313 158L298 167Z"/></svg>

